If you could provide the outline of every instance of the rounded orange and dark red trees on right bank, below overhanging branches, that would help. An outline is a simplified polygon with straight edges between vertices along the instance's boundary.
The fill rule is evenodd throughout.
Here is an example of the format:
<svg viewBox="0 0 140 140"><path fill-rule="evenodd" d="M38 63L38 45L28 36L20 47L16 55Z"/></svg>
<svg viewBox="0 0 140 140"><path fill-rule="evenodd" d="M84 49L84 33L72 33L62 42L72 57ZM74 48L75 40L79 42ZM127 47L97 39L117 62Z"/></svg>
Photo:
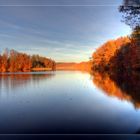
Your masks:
<svg viewBox="0 0 140 140"><path fill-rule="evenodd" d="M93 53L93 70L124 71L140 69L140 43L121 37L102 45Z"/></svg>

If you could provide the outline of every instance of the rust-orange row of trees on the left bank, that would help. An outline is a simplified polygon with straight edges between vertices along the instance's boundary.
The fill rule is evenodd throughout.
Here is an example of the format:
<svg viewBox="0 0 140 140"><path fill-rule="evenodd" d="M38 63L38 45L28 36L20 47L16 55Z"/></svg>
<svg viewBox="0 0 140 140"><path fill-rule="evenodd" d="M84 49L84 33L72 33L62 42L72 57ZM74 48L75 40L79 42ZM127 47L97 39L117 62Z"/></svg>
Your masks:
<svg viewBox="0 0 140 140"><path fill-rule="evenodd" d="M6 49L0 54L0 72L25 72L34 68L55 70L55 61L39 55L28 55Z"/></svg>

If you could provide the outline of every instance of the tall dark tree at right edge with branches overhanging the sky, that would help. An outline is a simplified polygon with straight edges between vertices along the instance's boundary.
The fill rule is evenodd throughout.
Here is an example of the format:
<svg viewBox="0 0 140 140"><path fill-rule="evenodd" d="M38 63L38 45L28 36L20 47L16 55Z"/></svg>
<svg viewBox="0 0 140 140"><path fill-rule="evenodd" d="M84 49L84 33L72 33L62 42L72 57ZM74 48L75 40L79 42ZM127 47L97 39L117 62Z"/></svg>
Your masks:
<svg viewBox="0 0 140 140"><path fill-rule="evenodd" d="M123 0L120 6L124 22L129 25L133 32L131 34L131 66L140 70L140 0Z"/></svg>

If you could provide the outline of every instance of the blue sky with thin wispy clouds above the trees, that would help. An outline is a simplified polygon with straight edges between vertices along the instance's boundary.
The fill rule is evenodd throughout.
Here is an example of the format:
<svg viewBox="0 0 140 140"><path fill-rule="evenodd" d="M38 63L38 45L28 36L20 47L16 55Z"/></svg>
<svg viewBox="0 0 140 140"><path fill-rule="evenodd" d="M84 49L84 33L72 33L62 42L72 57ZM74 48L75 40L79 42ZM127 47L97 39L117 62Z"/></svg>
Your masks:
<svg viewBox="0 0 140 140"><path fill-rule="evenodd" d="M0 51L86 61L101 44L130 34L122 0L0 0Z"/></svg>

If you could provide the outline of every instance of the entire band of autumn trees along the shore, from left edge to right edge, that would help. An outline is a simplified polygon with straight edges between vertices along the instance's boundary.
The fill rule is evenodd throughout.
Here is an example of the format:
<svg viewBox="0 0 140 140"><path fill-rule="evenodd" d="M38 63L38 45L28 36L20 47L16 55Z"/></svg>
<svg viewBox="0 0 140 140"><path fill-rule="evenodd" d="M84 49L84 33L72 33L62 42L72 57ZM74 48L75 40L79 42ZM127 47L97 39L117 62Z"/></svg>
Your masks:
<svg viewBox="0 0 140 140"><path fill-rule="evenodd" d="M129 5L132 6L129 6ZM99 47L88 62L56 63L39 55L28 55L5 49L0 55L0 72L41 70L86 70L123 73L140 70L140 2L124 0L119 7L123 22L132 29L132 34L109 40ZM56 68L57 67L57 68Z"/></svg>

